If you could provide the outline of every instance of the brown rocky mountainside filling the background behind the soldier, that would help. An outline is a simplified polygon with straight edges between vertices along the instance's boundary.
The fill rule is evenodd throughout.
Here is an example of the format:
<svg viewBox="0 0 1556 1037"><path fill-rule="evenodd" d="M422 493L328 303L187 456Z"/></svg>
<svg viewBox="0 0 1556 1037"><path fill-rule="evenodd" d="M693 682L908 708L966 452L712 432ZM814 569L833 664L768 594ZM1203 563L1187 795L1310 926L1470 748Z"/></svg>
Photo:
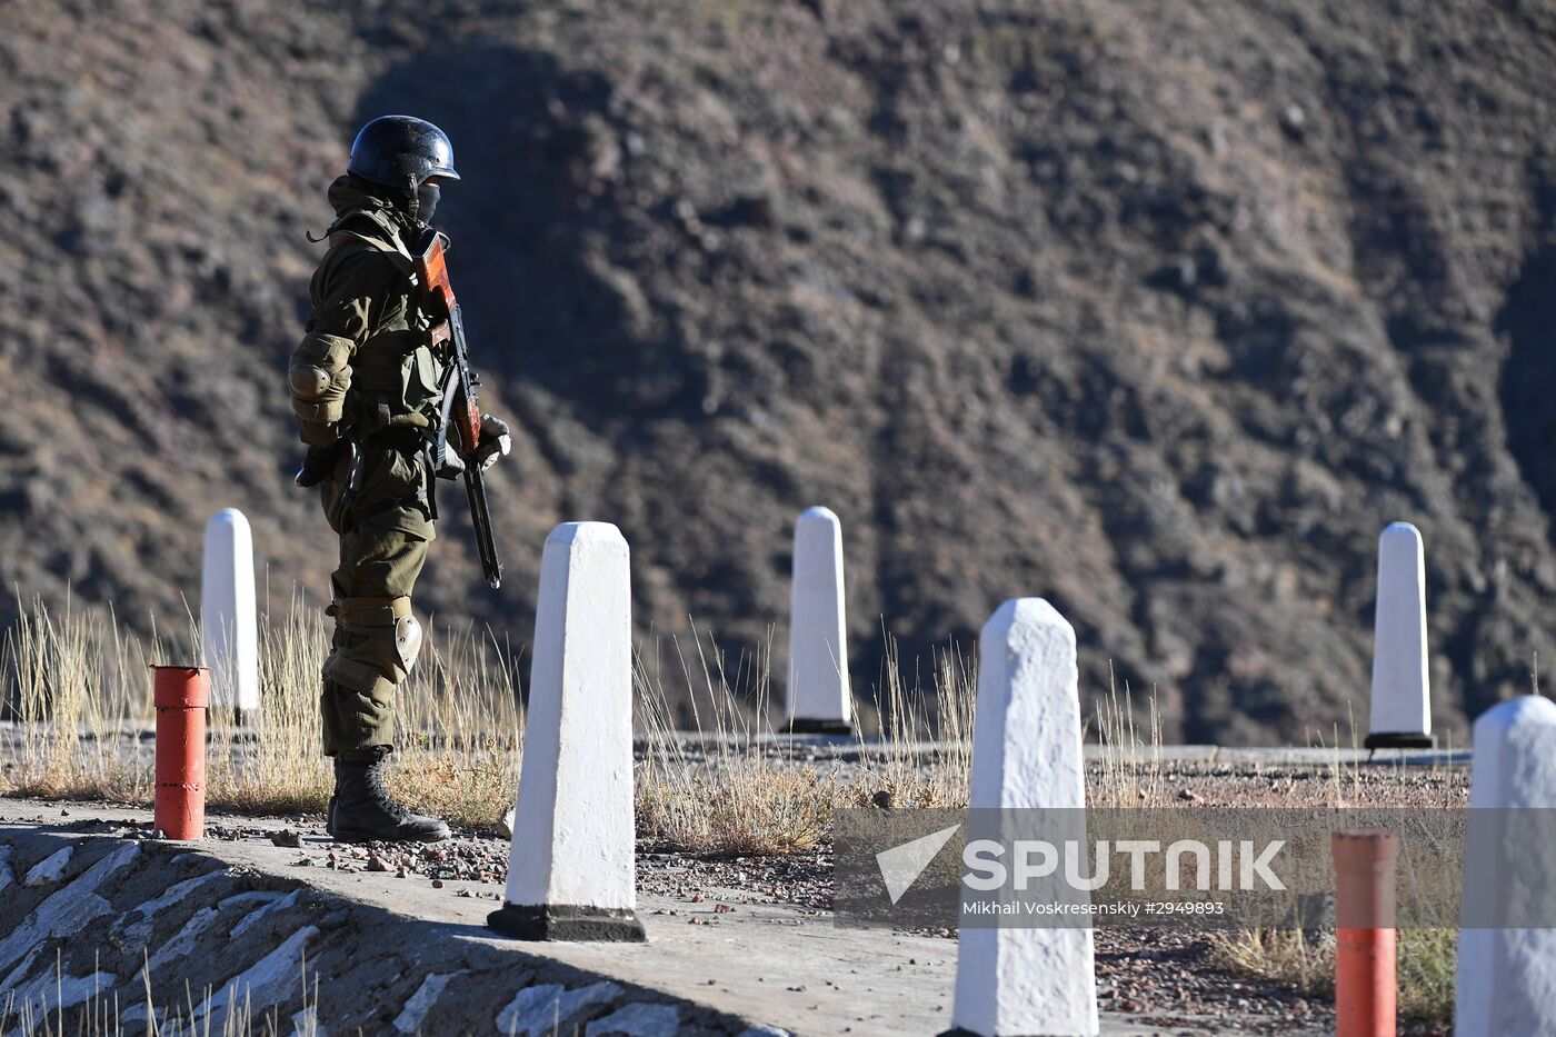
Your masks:
<svg viewBox="0 0 1556 1037"><path fill-rule="evenodd" d="M302 235L408 111L454 139L439 215L517 419L509 585L456 517L443 618L526 642L545 531L607 518L644 632L781 642L826 503L862 687L882 624L912 659L1036 593L1169 740L1349 740L1408 518L1439 721L1550 654L1548 6L475 6L3 16L8 584L177 615L232 504L272 604L324 593Z"/></svg>

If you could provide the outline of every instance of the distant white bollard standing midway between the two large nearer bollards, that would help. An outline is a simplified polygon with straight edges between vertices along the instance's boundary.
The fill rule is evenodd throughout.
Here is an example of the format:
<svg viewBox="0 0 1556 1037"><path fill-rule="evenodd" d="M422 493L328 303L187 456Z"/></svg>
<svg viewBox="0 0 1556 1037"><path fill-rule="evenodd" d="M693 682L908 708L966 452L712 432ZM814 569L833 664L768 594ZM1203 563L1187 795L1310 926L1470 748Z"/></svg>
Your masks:
<svg viewBox="0 0 1556 1037"><path fill-rule="evenodd" d="M843 606L843 526L826 508L794 523L794 587L789 598L789 730L846 735L848 613Z"/></svg>

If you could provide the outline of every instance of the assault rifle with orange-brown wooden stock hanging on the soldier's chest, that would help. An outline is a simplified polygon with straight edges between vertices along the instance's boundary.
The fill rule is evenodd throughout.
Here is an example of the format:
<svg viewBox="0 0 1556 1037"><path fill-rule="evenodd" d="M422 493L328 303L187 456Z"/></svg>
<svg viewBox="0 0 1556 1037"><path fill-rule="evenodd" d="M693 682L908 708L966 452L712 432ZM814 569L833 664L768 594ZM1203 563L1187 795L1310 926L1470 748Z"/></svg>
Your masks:
<svg viewBox="0 0 1556 1037"><path fill-rule="evenodd" d="M448 430L453 427L454 450L465 466L465 497L470 498L470 525L476 529L476 550L481 553L481 575L492 589L503 585L503 562L496 557L496 542L492 539L492 512L485 503L485 478L476 464L476 447L481 445L481 403L476 388L481 378L470 371L470 353L465 349L465 325L459 316L454 290L448 283L448 263L443 258L447 238L428 227L426 237L417 246L415 274L422 286L442 304L445 319L433 329L433 346L442 347L448 361L443 378L443 417L437 431L437 456L433 459L442 469L448 459Z"/></svg>

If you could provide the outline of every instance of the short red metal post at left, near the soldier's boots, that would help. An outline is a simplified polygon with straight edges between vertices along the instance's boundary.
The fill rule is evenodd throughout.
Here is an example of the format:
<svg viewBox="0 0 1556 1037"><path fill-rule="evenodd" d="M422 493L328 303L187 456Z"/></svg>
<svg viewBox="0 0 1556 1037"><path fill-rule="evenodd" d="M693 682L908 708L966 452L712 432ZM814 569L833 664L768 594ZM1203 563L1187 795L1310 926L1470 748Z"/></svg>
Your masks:
<svg viewBox="0 0 1556 1037"><path fill-rule="evenodd" d="M210 670L152 666L157 707L157 828L168 839L205 836L205 710Z"/></svg>

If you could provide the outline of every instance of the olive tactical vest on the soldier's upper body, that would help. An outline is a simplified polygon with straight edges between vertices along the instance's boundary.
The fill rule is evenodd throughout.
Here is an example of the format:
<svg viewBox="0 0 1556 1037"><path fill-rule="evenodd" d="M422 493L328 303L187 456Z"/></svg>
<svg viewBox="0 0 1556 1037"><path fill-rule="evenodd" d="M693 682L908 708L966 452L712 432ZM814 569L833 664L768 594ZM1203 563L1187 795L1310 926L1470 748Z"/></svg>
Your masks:
<svg viewBox="0 0 1556 1037"><path fill-rule="evenodd" d="M431 299L415 277L415 258L400 241L394 220L375 209L353 209L330 224L327 237L331 249L361 241L406 276L403 301L391 301L389 318L352 358L347 414L355 436L367 439L391 427L436 430L447 366L433 349Z"/></svg>

